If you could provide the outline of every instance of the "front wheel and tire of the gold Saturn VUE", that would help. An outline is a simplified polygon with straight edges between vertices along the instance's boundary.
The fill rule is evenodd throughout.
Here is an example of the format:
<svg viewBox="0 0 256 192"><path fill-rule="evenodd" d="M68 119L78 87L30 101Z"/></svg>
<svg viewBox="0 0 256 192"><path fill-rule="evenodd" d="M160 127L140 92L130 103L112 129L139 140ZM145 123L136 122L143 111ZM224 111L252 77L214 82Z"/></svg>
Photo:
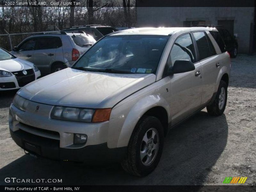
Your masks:
<svg viewBox="0 0 256 192"><path fill-rule="evenodd" d="M154 139L152 139L153 132L155 133ZM148 141L146 143L145 141L147 139ZM127 154L121 163L123 169L136 176L148 175L159 163L163 145L164 130L159 119L154 116L143 116L132 133ZM145 155L143 155L144 158L142 160L141 154ZM150 160L150 157L152 160Z"/></svg>

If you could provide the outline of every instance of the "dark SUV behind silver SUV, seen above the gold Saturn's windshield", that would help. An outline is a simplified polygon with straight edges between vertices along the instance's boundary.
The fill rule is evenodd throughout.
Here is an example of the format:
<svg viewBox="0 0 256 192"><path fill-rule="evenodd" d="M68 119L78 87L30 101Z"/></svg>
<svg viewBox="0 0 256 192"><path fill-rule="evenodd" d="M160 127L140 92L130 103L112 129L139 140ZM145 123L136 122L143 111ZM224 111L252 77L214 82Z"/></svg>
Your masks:
<svg viewBox="0 0 256 192"><path fill-rule="evenodd" d="M86 34L91 35L96 41L98 41L101 37L118 31L118 29L110 26L102 26L102 25L85 25L85 26L74 26L69 29L64 29L63 31L72 32L81 30Z"/></svg>

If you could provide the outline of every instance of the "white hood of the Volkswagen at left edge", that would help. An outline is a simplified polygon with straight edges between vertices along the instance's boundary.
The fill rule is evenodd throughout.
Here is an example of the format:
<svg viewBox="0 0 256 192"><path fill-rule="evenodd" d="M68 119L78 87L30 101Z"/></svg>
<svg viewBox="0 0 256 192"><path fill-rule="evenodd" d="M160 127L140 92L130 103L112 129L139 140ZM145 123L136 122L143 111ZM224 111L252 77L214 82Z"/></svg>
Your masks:
<svg viewBox="0 0 256 192"><path fill-rule="evenodd" d="M14 72L14 71L21 71L21 70L26 70L26 69L31 69L33 68L33 63L30 63L25 60L21 60L19 58L15 59L8 59L8 60L3 60L0 61L0 70L5 70L9 72Z"/></svg>

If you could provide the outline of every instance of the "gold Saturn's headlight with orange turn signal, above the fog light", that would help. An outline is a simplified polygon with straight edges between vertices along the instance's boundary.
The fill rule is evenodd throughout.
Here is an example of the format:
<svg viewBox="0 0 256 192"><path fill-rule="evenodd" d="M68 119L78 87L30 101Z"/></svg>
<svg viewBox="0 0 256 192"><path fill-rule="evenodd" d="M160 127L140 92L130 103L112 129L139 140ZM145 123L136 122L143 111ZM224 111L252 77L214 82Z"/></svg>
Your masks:
<svg viewBox="0 0 256 192"><path fill-rule="evenodd" d="M78 122L103 122L109 120L110 112L111 108L85 109L54 106L51 112L51 118Z"/></svg>

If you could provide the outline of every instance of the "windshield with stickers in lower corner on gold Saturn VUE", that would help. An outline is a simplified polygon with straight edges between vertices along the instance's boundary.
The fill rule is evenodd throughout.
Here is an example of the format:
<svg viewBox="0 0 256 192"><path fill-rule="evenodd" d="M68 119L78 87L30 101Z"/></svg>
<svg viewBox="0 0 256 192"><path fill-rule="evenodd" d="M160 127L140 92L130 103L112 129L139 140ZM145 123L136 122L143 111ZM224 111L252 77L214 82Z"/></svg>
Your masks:
<svg viewBox="0 0 256 192"><path fill-rule="evenodd" d="M112 73L154 73L170 36L107 36L72 68Z"/></svg>

